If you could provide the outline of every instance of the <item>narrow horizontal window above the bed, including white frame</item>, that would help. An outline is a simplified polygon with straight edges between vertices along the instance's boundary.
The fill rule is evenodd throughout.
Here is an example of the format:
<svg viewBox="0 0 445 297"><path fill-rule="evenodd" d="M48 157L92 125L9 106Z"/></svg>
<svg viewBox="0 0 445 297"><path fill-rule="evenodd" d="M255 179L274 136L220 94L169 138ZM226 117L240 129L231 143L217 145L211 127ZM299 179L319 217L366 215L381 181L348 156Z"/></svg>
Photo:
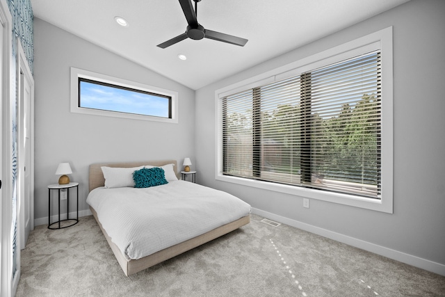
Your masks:
<svg viewBox="0 0 445 297"><path fill-rule="evenodd" d="M72 67L71 111L177 122L177 93Z"/></svg>

